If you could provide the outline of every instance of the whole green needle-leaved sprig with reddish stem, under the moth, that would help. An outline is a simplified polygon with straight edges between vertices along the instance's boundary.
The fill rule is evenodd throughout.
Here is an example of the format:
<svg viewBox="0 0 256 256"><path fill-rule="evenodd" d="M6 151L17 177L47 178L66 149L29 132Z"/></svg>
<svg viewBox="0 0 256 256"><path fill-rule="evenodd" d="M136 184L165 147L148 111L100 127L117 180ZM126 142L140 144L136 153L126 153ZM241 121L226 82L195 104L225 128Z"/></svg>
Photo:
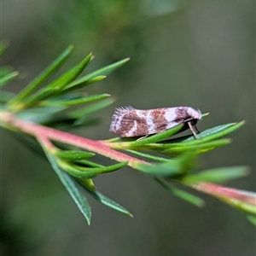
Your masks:
<svg viewBox="0 0 256 256"><path fill-rule="evenodd" d="M4 47L2 44L1 53ZM24 132L36 138L39 145L35 141L33 147L44 149L46 159L49 160L88 224L91 218L90 205L80 191L81 188L105 206L132 216L131 212L124 207L102 195L92 180L96 175L115 172L123 166L131 166L153 177L173 195L198 207L204 204L201 198L183 189L177 189L173 183L216 196L244 212L255 224L254 194L244 195L244 192L233 189L231 195L223 188L211 185L211 183L224 183L233 178L243 177L247 175L247 167L224 167L196 172L195 164L199 154L230 143L230 139L223 137L241 128L244 121L237 124L218 125L201 131L198 139L193 135L170 139L172 135L182 131L183 124L139 140L117 137L107 141L93 141L53 129L67 130L81 125L95 124L97 120L93 117L94 113L107 108L113 99L106 93L88 96L77 90L102 81L108 73L129 61L124 59L79 77L92 59L92 55L89 54L75 67L47 84L46 81L67 61L72 50L73 46L67 47L49 67L38 74L17 95L1 90L1 125L5 129ZM9 84L16 76L17 73L10 70L4 73L0 80L1 88L3 89L3 86ZM73 109L73 106L77 108ZM202 116L202 119L205 117L207 113ZM24 137L22 133L20 136ZM125 153L120 153L119 150ZM118 163L102 166L94 157L96 154L101 154ZM222 189L223 194L218 193L219 189Z"/></svg>

